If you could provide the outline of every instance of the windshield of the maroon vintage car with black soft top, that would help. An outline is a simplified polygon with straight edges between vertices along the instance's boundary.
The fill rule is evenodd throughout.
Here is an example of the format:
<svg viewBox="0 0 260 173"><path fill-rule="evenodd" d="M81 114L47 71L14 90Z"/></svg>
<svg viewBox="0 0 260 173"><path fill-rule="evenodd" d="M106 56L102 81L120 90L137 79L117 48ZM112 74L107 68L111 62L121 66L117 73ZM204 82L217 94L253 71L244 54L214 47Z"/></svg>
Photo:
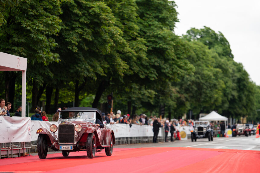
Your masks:
<svg viewBox="0 0 260 173"><path fill-rule="evenodd" d="M83 112L83 111L71 111L60 112L59 120L73 119L73 120L89 120L89 122L95 122L96 112Z"/></svg>

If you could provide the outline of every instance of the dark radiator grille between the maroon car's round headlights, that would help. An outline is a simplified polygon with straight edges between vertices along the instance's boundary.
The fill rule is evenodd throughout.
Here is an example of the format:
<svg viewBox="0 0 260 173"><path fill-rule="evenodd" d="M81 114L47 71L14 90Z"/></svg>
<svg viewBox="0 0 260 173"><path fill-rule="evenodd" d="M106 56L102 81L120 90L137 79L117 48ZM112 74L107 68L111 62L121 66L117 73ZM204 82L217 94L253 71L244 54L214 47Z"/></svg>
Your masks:
<svg viewBox="0 0 260 173"><path fill-rule="evenodd" d="M74 125L72 124L62 124L59 125L59 137L58 143L69 144L74 143Z"/></svg>

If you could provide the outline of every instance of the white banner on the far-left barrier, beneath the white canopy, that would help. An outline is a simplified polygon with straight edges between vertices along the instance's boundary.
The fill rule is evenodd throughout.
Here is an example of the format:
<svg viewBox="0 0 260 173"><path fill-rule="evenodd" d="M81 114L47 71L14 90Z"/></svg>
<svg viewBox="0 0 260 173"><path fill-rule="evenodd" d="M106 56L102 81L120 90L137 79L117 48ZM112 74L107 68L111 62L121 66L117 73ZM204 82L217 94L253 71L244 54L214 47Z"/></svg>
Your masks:
<svg viewBox="0 0 260 173"><path fill-rule="evenodd" d="M0 116L0 143L30 142L30 117Z"/></svg>

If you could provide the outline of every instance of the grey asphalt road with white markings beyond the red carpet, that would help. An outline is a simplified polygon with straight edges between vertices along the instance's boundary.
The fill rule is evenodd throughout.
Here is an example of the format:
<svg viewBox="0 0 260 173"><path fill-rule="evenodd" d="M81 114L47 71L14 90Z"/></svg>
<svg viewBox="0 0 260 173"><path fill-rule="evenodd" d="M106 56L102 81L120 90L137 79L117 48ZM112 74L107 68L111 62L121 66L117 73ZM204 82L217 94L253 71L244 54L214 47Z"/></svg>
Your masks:
<svg viewBox="0 0 260 173"><path fill-rule="evenodd" d="M219 137L213 141L208 139L197 139L197 142L188 140L178 140L167 143L142 143L130 145L117 145L114 148L146 148L146 147L193 147L193 148L212 148L212 149L241 149L241 150L257 150L260 151L260 138L251 136L236 136L236 137Z"/></svg>

